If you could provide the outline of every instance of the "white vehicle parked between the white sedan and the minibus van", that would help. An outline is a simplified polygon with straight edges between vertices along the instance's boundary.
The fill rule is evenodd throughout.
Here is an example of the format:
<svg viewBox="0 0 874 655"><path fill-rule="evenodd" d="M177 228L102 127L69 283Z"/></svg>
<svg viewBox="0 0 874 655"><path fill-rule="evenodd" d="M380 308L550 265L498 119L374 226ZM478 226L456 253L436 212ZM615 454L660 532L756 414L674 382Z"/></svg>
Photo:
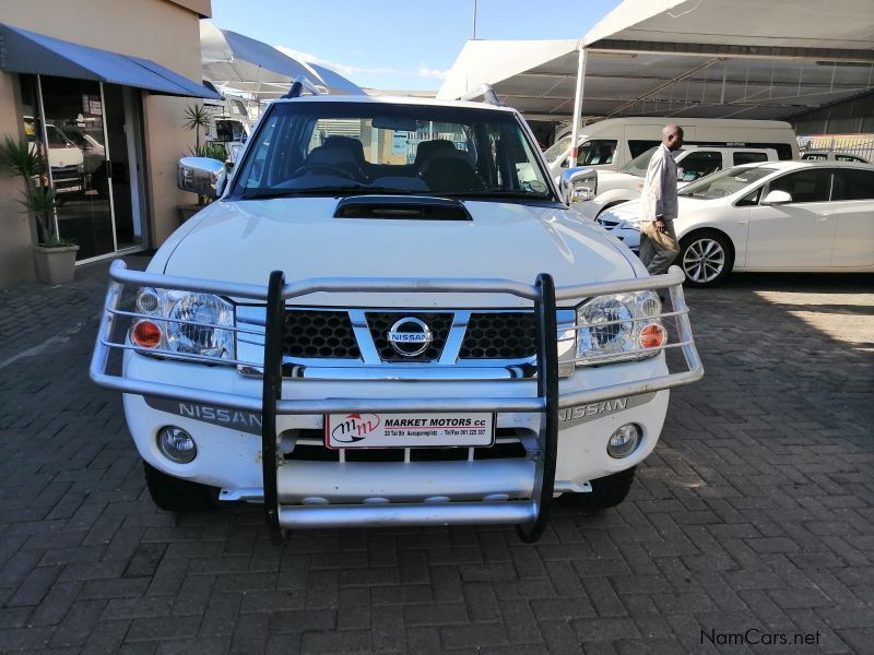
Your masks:
<svg viewBox="0 0 874 655"><path fill-rule="evenodd" d="M639 198L649 160L658 147L653 146L635 157L619 171L590 169L588 186L592 199L577 203L574 207L587 218L594 219L604 210ZM682 189L718 170L756 162L776 162L779 156L770 147L690 146L675 153L674 159L677 166L677 186Z"/></svg>

